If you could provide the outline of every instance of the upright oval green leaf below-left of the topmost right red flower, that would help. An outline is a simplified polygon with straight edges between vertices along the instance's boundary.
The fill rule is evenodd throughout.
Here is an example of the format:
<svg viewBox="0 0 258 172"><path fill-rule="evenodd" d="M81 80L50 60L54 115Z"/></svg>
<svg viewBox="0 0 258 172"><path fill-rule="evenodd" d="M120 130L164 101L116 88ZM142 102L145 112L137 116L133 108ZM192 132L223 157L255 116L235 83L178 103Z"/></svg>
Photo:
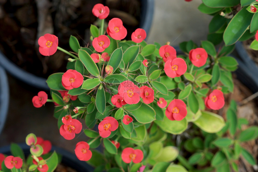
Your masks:
<svg viewBox="0 0 258 172"><path fill-rule="evenodd" d="M130 66L134 62L134 60L139 54L139 51L140 51L139 45L131 46L125 51L123 55L123 61L125 63L125 67Z"/></svg>

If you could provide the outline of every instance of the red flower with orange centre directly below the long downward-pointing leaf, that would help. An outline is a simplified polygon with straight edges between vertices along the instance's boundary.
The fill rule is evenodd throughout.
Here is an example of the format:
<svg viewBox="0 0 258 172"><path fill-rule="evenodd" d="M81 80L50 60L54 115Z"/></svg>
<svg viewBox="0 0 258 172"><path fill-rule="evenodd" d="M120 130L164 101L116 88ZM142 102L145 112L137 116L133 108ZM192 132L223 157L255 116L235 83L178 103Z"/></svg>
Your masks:
<svg viewBox="0 0 258 172"><path fill-rule="evenodd" d="M103 119L98 125L99 135L103 138L110 136L111 131L118 128L118 122L115 118L108 116Z"/></svg>

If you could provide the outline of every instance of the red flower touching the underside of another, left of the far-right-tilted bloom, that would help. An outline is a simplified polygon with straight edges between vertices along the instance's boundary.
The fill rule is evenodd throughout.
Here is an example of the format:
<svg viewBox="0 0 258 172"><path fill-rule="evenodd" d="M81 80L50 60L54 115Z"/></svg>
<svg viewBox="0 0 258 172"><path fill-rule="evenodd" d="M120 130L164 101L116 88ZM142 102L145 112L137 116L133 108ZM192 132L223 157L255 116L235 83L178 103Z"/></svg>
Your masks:
<svg viewBox="0 0 258 172"><path fill-rule="evenodd" d="M164 65L164 71L168 77L180 77L187 70L186 62L181 58L169 59Z"/></svg>

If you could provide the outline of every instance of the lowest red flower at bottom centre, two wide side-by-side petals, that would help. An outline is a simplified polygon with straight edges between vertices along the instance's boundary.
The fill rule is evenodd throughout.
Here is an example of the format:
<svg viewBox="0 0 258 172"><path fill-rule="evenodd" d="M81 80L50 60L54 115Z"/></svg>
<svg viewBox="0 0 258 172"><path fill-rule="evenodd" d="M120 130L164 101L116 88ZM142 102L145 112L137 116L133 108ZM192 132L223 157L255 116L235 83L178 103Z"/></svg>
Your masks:
<svg viewBox="0 0 258 172"><path fill-rule="evenodd" d="M121 156L125 163L130 163L132 160L134 163L140 163L143 160L143 151L127 147L122 151Z"/></svg>

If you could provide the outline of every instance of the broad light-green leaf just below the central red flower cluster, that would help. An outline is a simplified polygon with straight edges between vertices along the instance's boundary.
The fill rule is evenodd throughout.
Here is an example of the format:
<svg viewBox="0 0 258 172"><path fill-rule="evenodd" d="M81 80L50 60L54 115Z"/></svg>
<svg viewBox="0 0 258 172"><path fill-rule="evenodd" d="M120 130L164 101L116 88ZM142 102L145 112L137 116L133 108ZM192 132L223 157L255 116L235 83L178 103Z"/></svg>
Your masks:
<svg viewBox="0 0 258 172"><path fill-rule="evenodd" d="M126 110L129 107L124 107ZM150 107L148 104L143 103L138 109L136 110L127 110L128 113L130 113L134 118L142 123L147 124L155 120L156 113L153 110L152 107Z"/></svg>

